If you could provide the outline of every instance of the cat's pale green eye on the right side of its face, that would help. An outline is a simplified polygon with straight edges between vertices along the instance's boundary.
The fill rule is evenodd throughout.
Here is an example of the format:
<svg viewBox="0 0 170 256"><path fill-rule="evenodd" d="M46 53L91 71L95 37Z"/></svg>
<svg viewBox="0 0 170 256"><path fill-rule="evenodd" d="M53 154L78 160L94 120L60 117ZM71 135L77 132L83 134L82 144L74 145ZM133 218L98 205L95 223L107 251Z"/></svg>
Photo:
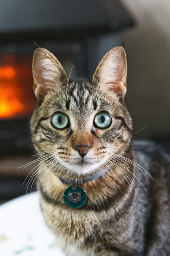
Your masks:
<svg viewBox="0 0 170 256"><path fill-rule="evenodd" d="M111 124L111 117L107 112L99 112L94 119L93 125L97 128L107 128Z"/></svg>

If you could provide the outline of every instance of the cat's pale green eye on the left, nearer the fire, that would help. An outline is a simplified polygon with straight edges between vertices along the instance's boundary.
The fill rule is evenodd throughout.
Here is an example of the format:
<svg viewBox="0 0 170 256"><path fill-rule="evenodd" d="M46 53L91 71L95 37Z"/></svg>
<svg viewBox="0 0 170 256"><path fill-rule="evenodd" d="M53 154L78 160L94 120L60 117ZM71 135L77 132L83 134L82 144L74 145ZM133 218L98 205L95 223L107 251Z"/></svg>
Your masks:
<svg viewBox="0 0 170 256"><path fill-rule="evenodd" d="M65 114L58 112L51 117L51 123L57 129L64 129L69 126L69 119Z"/></svg>

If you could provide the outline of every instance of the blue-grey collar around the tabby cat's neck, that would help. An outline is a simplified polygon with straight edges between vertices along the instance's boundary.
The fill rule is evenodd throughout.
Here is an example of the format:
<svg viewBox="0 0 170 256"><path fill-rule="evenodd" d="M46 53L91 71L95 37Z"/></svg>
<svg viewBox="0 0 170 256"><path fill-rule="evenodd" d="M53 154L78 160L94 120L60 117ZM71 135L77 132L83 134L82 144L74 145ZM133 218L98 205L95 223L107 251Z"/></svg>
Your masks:
<svg viewBox="0 0 170 256"><path fill-rule="evenodd" d="M66 184L66 183L69 183L69 184L83 184L83 183L86 183L86 182L89 182L89 181L92 181L92 180L95 180L95 179L101 177L102 175L104 175L104 173L106 173L106 171L108 171L108 168L105 168L105 169L103 169L102 171L99 171L99 173L95 173L95 174L93 174L92 176L87 177L87 178L82 179L82 180L67 180L67 179L62 179L62 178L58 177L55 173L54 173L54 175L55 175L63 184Z"/></svg>

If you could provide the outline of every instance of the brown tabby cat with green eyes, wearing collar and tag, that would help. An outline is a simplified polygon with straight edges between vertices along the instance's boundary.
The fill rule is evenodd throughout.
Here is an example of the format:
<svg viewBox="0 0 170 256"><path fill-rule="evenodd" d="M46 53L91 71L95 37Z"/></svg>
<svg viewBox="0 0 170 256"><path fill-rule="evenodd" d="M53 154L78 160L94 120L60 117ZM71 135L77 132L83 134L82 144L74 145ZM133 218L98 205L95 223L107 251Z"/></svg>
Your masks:
<svg viewBox="0 0 170 256"><path fill-rule="evenodd" d="M121 46L91 81L71 81L51 52L35 49L40 205L66 256L170 255L170 159L132 142L126 76Z"/></svg>

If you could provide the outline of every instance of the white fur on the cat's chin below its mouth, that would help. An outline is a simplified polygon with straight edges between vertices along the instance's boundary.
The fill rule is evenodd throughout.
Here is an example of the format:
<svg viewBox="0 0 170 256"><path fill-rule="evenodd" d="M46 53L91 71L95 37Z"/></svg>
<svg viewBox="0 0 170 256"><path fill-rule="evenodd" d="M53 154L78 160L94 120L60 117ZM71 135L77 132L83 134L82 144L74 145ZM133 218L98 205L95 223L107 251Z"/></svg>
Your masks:
<svg viewBox="0 0 170 256"><path fill-rule="evenodd" d="M71 171L71 173L77 173L78 175L86 175L86 174L94 174L101 170L102 164L104 164L104 160L98 163L87 163L87 162L77 162L77 163L64 163L64 166Z"/></svg>

